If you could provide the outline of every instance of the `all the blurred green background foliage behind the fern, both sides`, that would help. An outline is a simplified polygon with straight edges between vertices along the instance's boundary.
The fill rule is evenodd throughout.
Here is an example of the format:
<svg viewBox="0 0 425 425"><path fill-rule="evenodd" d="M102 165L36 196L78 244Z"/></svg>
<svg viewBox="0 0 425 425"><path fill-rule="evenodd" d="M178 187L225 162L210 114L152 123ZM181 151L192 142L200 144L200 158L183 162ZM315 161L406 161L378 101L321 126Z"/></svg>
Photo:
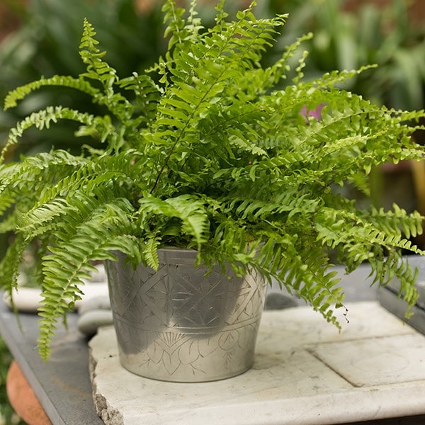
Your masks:
<svg viewBox="0 0 425 425"><path fill-rule="evenodd" d="M215 0L198 0L200 17L206 26L213 25ZM180 0L188 4L188 0ZM246 0L229 0L227 9L234 14L248 4ZM257 16L289 13L275 47L264 57L270 63L285 45L300 35L314 33L305 42L310 51L304 69L307 78L333 69L354 69L363 64L378 64L344 89L390 108L425 107L425 1L424 0L257 0ZM53 74L77 76L83 71L78 55L84 17L96 28L102 50L120 77L140 72L155 62L166 48L162 37L162 0L0 0L0 99L16 86ZM296 60L296 58L295 58ZM0 111L0 144L6 141L8 128L30 111L47 104L98 113L84 95L64 89L40 91L23 101L18 108ZM28 131L13 156L21 152L49 150L53 145L79 149L87 140L74 138L73 123L64 130L47 134ZM425 143L424 132L416 139ZM91 141L93 145L93 141ZM403 171L403 167L401 167ZM390 202L417 206L414 182L409 167L395 174ZM397 168L399 170L399 168ZM391 173L390 173L391 174ZM378 192L385 191L382 173L375 177ZM407 181L400 180L406 179ZM397 198L397 187L404 199ZM425 197L425 188L424 188ZM380 200L382 202L382 200ZM425 208L425 207L424 207ZM1 243L1 242L0 242ZM4 242L6 243L6 242ZM1 251L1 249L0 249ZM0 424L12 424L12 411L6 404L4 377L10 360L0 340ZM3 419L5 420L5 419Z"/></svg>

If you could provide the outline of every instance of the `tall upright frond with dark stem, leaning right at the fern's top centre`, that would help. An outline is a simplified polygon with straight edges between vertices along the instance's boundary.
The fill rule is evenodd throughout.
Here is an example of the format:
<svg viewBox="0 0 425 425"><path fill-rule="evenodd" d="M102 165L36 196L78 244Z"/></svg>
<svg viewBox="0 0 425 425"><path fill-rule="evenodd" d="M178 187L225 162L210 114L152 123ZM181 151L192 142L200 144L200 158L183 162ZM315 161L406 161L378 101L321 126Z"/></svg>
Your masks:
<svg viewBox="0 0 425 425"><path fill-rule="evenodd" d="M167 2L164 7L166 18L171 19L173 28L183 28L184 21L180 11L174 8L174 2ZM176 54L169 57L166 64L174 85L169 91L171 96L162 98L154 130L171 127L177 131L172 137L169 154L158 168L151 193L156 191L176 147L193 143L191 134L196 131L199 118L208 116L215 98L218 99L226 90L232 90L229 81L242 81L236 69L250 69L258 64L261 52L276 33L275 27L283 21L281 16L273 20L250 21L253 19L251 8L239 13L238 19L236 23L223 27L220 34L214 30L204 33L205 44L197 43L197 50L193 50L191 39L186 39L183 32L179 32L179 36L174 32L176 38L171 40L171 45L175 47ZM242 42L242 39L249 42ZM238 140L240 142L239 137L234 138L235 142ZM260 148L254 149L261 152Z"/></svg>

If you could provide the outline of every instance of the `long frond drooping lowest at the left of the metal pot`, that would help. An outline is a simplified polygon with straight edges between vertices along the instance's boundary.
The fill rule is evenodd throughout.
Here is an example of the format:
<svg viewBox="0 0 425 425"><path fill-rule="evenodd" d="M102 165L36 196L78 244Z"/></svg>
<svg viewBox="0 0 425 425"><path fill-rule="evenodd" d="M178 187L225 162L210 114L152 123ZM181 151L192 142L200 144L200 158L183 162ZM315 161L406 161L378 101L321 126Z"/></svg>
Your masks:
<svg viewBox="0 0 425 425"><path fill-rule="evenodd" d="M94 202L98 204L96 208L91 205ZM123 243L129 240L123 237L132 231L128 222L128 213L132 208L127 200L109 199L101 203L89 197L80 197L79 203L89 207L86 213L81 215L80 209L78 215L67 215L64 227L55 232L55 246L49 246L50 254L42 259L42 297L45 302L39 309L38 348L45 359L50 355L50 341L57 318L72 310L74 302L80 299L84 279L89 277L89 271L94 270L91 262L115 259L111 253L113 249L120 249L130 255L134 253L134 240L130 245ZM111 210L114 212L112 215ZM102 223L100 228L99 222Z"/></svg>

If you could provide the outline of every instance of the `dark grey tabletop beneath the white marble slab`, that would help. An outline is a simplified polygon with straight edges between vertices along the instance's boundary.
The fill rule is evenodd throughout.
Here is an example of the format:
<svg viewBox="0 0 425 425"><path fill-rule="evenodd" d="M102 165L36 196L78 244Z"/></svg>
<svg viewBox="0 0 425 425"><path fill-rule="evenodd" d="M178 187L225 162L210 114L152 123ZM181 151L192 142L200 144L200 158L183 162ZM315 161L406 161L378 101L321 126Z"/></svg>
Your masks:
<svg viewBox="0 0 425 425"><path fill-rule="evenodd" d="M361 267L350 276L344 276L343 286L349 301L374 300L376 290L367 280L368 267ZM273 289L275 290L275 289ZM0 333L53 425L102 425L91 398L88 348L79 334L77 315L69 314L68 329L59 327L52 344L52 356L45 363L35 348L38 336L38 318L21 314L21 327L16 317L0 302ZM425 405L424 405L425 410ZM358 422L374 425L425 424L425 414L404 418ZM141 424L142 425L142 424Z"/></svg>

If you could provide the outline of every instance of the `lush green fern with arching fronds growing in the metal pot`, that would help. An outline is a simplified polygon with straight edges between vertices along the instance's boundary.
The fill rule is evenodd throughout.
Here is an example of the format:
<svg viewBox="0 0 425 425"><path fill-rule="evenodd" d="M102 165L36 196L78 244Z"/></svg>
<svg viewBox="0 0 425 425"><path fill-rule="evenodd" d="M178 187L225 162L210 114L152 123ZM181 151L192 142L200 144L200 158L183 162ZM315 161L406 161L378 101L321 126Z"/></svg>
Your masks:
<svg viewBox="0 0 425 425"><path fill-rule="evenodd" d="M423 217L395 206L357 207L334 186L368 194L368 174L382 162L420 159L410 135L424 111L394 111L338 88L359 72L305 81L307 54L290 59L306 35L269 67L261 57L286 16L259 19L255 2L229 19L225 0L205 30L196 0L188 11L164 1L168 50L143 74L118 77L84 21L79 52L86 72L41 78L11 91L5 108L45 86L82 91L105 111L91 115L47 106L17 123L1 155L1 232L16 236L0 264L12 292L26 246L42 253L39 349L48 358L57 319L81 297L93 261L123 251L134 263L158 266L157 249L196 249L198 262L254 268L276 279L337 326L344 293L329 253L353 271L364 261L381 285L397 276L413 305L415 273L402 257L421 254L409 237ZM287 81L284 81L284 80ZM285 89L276 89L285 82ZM309 111L324 106L320 119ZM103 149L60 149L5 163L30 127L79 123Z"/></svg>

